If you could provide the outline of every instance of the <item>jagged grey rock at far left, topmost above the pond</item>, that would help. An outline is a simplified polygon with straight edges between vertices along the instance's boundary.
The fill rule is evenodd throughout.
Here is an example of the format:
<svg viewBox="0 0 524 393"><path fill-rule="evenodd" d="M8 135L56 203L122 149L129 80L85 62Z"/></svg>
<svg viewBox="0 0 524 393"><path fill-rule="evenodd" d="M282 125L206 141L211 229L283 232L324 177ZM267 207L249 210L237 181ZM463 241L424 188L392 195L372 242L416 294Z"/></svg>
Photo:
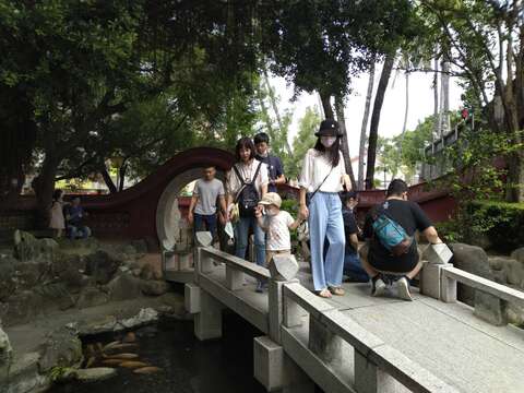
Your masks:
<svg viewBox="0 0 524 393"><path fill-rule="evenodd" d="M22 230L14 231L14 255L25 261L53 261L59 246L53 239L37 239Z"/></svg>

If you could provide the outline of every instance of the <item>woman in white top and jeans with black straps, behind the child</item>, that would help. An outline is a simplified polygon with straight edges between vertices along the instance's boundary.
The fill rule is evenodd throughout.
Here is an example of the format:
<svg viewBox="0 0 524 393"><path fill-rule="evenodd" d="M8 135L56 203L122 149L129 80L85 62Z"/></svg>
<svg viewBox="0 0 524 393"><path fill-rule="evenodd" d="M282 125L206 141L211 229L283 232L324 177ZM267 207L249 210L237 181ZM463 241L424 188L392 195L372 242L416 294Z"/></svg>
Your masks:
<svg viewBox="0 0 524 393"><path fill-rule="evenodd" d="M250 138L241 138L235 146L237 163L227 174L227 212L231 214L238 204L238 222L235 226L235 254L246 257L249 230L253 230L255 261L265 266L265 234L257 224L254 211L267 192L267 166L254 158L254 144ZM257 291L263 290L258 283Z"/></svg>

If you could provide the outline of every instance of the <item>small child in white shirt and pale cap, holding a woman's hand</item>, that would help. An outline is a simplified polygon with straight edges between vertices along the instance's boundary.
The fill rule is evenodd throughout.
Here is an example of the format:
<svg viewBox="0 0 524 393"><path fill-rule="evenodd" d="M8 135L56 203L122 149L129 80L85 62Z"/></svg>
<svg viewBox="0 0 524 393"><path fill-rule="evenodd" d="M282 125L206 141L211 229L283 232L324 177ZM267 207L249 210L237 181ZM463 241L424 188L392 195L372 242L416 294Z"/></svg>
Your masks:
<svg viewBox="0 0 524 393"><path fill-rule="evenodd" d="M255 217L259 226L266 233L265 260L269 263L275 254L290 254L291 239L289 229L297 229L302 219L294 219L286 211L281 211L282 199L276 192L267 192L259 202L265 207L265 215L259 206Z"/></svg>

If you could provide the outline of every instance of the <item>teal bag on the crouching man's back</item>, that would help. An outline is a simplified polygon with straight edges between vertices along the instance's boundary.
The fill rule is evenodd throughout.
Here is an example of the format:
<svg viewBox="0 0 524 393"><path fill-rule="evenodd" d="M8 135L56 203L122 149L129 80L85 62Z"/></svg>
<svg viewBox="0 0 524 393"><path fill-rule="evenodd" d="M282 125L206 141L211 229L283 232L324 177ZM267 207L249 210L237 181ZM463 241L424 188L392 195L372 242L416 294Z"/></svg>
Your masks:
<svg viewBox="0 0 524 393"><path fill-rule="evenodd" d="M388 251L394 257L401 257L409 251L413 237L408 236L398 223L385 214L388 202L381 207L373 217L373 234Z"/></svg>

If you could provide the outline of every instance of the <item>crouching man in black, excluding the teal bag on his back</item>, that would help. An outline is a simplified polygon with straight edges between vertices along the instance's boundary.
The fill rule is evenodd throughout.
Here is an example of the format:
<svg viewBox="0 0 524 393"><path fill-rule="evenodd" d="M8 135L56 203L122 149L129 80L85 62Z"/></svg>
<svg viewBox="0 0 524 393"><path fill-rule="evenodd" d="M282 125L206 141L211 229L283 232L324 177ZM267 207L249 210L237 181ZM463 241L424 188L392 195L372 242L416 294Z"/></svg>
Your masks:
<svg viewBox="0 0 524 393"><path fill-rule="evenodd" d="M442 242L437 229L420 206L407 200L407 191L408 188L404 180L392 180L388 188L385 202L371 209L366 217L364 237L367 239L369 248L367 252L362 252L361 257L362 266L372 281L373 296L382 295L386 288L382 274L393 274L402 276L396 282L398 296L405 300L412 300L409 281L418 274L422 266L419 262L415 231L419 230L430 243ZM410 238L412 243L405 253L393 254L374 234L373 222L381 214L402 226Z"/></svg>

